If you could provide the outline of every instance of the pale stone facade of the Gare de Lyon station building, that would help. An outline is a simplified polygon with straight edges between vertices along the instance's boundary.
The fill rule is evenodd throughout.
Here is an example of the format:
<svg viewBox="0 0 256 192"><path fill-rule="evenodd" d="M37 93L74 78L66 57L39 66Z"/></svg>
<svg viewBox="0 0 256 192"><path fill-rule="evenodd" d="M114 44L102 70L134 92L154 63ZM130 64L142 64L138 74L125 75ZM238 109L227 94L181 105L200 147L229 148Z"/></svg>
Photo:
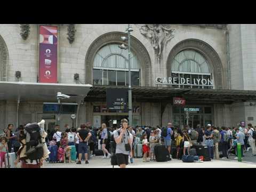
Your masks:
<svg viewBox="0 0 256 192"><path fill-rule="evenodd" d="M49 25L49 24L48 24ZM75 25L74 42L67 39L68 25L58 24L58 83L60 84L92 84L95 54L108 44L121 44L119 38L125 35L126 24L77 24ZM0 25L0 79L16 82L15 71L21 72L19 81L37 83L39 67L39 25L30 24L27 39L21 38L19 24ZM256 67L256 25L218 25L218 24L170 24L160 25L162 28L150 28L148 31L162 30L165 35L173 35L163 42L160 56L159 46L155 49L154 38L142 32L145 25L131 25L133 31L131 49L139 62L140 86L157 87L157 77L169 77L175 56L186 50L194 50L207 61L214 82L213 89L221 90L256 90L253 84ZM147 27L147 26L146 26ZM174 33L171 29L175 29ZM165 38L167 38L165 36ZM155 38L160 42L160 37ZM255 73L254 73L255 72ZM79 82L74 74L79 74ZM160 85L165 87L165 85ZM1 93L0 93L1 96ZM0 97L1 99L1 97ZM46 101L21 101L17 117L17 101L0 100L0 127L18 122L25 124L36 122L43 118L42 103ZM250 105L251 103L251 105ZM84 122L94 122L93 106L104 105L105 102L80 103L77 125ZM191 103L193 104L193 103ZM162 117L161 104L157 102L140 102L140 112L137 123L140 125L166 125L174 121L172 101L167 104ZM211 123L217 126L235 126L241 121L255 124L255 102L234 102L232 104L208 103L211 106ZM125 115L125 114L115 114ZM248 121L247 117L254 117ZM17 121L18 118L18 121ZM183 118L183 117L182 117ZM250 118L252 119L252 118ZM182 120L179 120L180 122ZM68 115L61 118L63 124L71 124ZM204 124L205 122L202 122Z"/></svg>

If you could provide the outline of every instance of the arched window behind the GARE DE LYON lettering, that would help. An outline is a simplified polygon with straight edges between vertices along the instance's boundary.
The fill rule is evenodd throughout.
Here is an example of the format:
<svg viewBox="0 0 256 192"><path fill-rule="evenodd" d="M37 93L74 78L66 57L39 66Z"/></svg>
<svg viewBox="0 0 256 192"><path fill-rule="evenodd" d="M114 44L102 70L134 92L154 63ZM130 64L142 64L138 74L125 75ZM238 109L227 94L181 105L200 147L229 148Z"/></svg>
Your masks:
<svg viewBox="0 0 256 192"><path fill-rule="evenodd" d="M208 61L195 50L183 50L175 55L171 63L172 77L179 79L174 87L211 89L213 79ZM203 85L203 86L199 86Z"/></svg>

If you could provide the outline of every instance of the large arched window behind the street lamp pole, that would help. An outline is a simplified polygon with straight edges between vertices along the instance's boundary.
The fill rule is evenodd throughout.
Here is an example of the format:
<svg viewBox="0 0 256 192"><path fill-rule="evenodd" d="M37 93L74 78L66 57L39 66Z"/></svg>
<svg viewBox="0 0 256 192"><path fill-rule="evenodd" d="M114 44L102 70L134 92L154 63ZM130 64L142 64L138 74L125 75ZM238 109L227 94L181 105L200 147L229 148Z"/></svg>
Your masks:
<svg viewBox="0 0 256 192"><path fill-rule="evenodd" d="M93 61L93 85L129 85L128 51L119 44L108 44L97 52ZM140 63L131 53L131 84L140 85Z"/></svg>

